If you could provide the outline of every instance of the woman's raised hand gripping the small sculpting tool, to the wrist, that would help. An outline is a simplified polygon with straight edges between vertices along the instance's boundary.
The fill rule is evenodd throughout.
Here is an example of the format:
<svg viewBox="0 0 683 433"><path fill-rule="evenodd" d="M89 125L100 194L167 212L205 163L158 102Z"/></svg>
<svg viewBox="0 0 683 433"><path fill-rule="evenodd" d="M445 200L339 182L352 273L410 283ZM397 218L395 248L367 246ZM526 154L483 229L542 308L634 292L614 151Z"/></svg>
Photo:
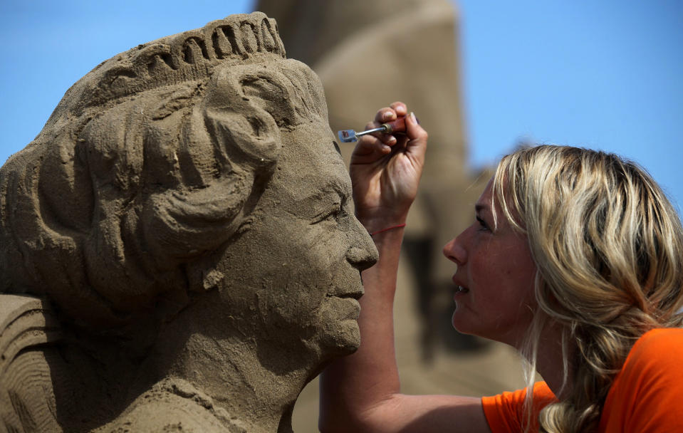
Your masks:
<svg viewBox="0 0 683 433"><path fill-rule="evenodd" d="M356 216L372 233L405 223L417 195L427 150L427 132L404 103L377 111L366 130L406 116L405 135L363 135L351 155L350 175Z"/></svg>

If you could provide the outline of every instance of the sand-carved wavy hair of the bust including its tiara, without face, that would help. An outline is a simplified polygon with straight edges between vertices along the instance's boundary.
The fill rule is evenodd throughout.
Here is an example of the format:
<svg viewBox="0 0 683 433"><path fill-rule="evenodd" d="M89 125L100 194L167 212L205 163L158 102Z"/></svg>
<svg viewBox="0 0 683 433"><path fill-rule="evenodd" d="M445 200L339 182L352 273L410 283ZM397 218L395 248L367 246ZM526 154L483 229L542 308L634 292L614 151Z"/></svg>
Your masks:
<svg viewBox="0 0 683 433"><path fill-rule="evenodd" d="M0 169L0 292L91 329L178 311L230 278L202 269L249 229L281 134L327 121L322 95L261 13L100 64Z"/></svg>

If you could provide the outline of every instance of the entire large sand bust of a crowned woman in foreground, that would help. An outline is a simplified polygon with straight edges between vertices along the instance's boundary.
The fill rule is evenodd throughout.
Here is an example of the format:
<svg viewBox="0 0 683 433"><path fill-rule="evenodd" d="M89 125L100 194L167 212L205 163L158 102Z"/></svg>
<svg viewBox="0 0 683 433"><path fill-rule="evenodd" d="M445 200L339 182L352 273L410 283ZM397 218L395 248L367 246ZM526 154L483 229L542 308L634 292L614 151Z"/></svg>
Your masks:
<svg viewBox="0 0 683 433"><path fill-rule="evenodd" d="M376 260L275 21L145 43L0 170L0 431L289 432Z"/></svg>

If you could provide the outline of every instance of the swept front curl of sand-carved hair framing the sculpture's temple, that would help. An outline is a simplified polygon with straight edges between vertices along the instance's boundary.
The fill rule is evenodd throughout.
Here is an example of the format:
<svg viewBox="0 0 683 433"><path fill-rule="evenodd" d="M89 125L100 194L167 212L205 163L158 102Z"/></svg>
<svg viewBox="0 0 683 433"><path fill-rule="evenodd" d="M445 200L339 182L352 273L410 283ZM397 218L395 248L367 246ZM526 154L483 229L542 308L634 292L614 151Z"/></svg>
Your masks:
<svg viewBox="0 0 683 433"><path fill-rule="evenodd" d="M207 173L194 177L202 179L199 184L187 184L193 177L183 176L182 187L153 194L145 206L147 245L160 257L182 261L217 249L258 201L278 160L281 128L293 118L283 77L262 69L232 66L209 83L193 113L197 121L187 143L192 161L181 167ZM207 141L203 152L209 151L211 164L195 152Z"/></svg>

